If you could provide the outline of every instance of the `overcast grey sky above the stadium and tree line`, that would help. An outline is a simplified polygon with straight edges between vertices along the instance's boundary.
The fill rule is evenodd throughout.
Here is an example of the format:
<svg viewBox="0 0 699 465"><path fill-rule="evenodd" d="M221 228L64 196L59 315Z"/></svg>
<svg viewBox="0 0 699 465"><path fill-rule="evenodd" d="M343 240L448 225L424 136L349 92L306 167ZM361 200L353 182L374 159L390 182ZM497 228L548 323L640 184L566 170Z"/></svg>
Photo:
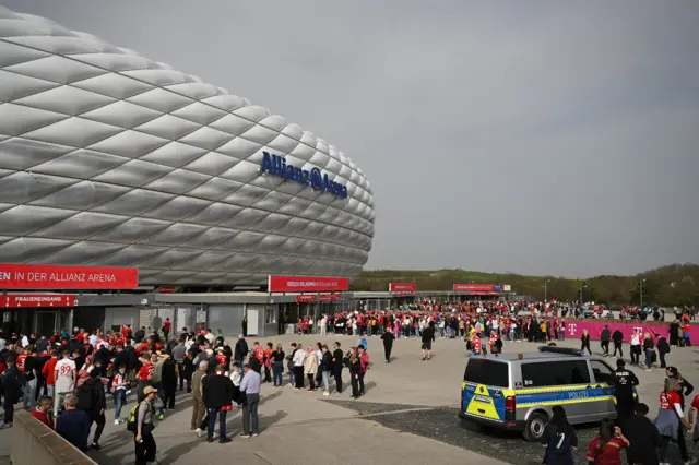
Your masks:
<svg viewBox="0 0 699 465"><path fill-rule="evenodd" d="M374 187L366 269L699 262L699 2L0 0L250 98Z"/></svg>

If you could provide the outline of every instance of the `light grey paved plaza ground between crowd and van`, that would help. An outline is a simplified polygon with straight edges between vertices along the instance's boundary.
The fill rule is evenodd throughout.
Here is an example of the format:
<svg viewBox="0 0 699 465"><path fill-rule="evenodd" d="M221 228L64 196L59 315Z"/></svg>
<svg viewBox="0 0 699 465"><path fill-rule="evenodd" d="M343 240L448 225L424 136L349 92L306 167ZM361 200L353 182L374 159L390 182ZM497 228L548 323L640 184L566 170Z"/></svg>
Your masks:
<svg viewBox="0 0 699 465"><path fill-rule="evenodd" d="M248 338L249 343L258 341ZM340 341L342 348L356 345L351 336L279 336L264 337L260 343L292 342L311 345L318 341L331 344ZM599 343L593 342L599 351ZM238 410L228 414L228 444L206 443L189 431L191 403L181 394L175 412L157 425L155 438L159 464L221 464L229 460L258 464L540 464L543 451L538 444L525 442L521 436L489 431L462 425L457 417L460 385L467 359L460 339L438 339L430 361L419 359L419 339L399 339L393 347L391 363L383 361L383 346L378 337L369 337L369 354L374 361L366 375L367 393L354 401L350 391L323 397L321 392L294 391L288 386L263 384L260 406L260 436L240 439ZM574 347L578 341L559 345ZM535 350L537 344L505 343L505 351ZM625 348L628 346L625 345ZM670 365L679 367L686 378L699 382L699 348L673 348ZM625 354L627 355L627 354ZM613 365L613 359L609 359ZM345 380L348 381L348 372ZM641 386L639 394L652 415L657 412L657 394L664 370L636 370ZM348 384L348 383L347 383ZM133 405L133 397L122 412ZM126 427L114 426L114 413L107 414L107 427L102 439L103 450L91 452L99 464L133 463L133 436ZM578 463L584 463L584 450L595 433L595 427L577 428L581 449ZM9 431L0 432L0 455L8 453ZM676 448L671 448L676 454Z"/></svg>

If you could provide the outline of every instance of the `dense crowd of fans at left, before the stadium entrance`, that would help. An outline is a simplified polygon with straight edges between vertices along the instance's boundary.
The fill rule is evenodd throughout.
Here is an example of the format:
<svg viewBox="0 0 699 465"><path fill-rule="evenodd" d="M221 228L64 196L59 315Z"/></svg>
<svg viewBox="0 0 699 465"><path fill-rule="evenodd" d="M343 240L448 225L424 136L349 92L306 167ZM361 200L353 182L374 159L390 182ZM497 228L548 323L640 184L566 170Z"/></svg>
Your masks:
<svg viewBox="0 0 699 465"><path fill-rule="evenodd" d="M106 334L74 329L49 338L20 333L7 341L0 333L0 343L4 409L0 429L12 427L15 405L21 403L81 451L99 450L111 396L115 425L126 422L134 436L137 464L154 461L155 420L164 420L167 410L175 409L178 389L192 398L191 430L213 442L218 419L218 442L226 443L230 442L226 415L235 408L242 410L240 437L259 434L262 383L311 392L322 389L325 396L331 390L341 394L346 368L352 397L358 398L365 394L370 365L364 336L346 353L340 342L332 350L321 343L308 347L293 343L285 353L281 344L266 343L263 348L254 342L250 347L242 334L230 347L220 330L214 334L182 329L179 336L167 339L158 331L146 334L145 327L134 334L129 325ZM123 418L131 394L135 402Z"/></svg>

